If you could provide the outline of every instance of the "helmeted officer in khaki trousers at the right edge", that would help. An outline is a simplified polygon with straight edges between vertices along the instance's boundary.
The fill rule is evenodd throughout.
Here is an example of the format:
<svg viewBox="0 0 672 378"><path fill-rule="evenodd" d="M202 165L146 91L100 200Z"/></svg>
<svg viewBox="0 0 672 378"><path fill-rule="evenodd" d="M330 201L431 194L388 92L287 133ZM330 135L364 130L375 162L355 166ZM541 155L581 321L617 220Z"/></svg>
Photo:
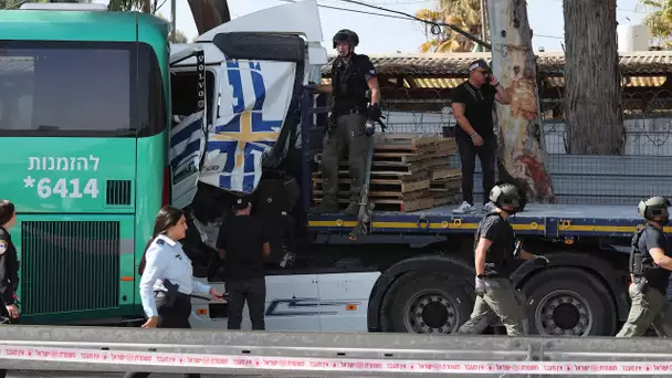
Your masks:
<svg viewBox="0 0 672 378"><path fill-rule="evenodd" d="M628 287L632 305L617 337L642 336L651 325L659 336L672 336L672 306L668 302L672 259L663 232L670 220L669 207L670 201L662 197L639 202L638 212L647 224L632 237Z"/></svg>

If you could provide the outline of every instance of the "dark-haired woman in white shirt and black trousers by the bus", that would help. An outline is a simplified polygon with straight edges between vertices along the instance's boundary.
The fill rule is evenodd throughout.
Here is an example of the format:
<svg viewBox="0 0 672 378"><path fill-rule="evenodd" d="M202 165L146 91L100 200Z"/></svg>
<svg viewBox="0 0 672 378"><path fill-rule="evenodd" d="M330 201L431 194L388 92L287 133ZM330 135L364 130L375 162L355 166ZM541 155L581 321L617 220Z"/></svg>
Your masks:
<svg viewBox="0 0 672 378"><path fill-rule="evenodd" d="M166 206L156 216L154 233L140 261L140 298L147 314L143 328L191 328L191 293L222 295L210 285L193 280L191 260L179 240L187 235L185 213ZM149 372L127 372L126 377L148 377ZM200 377L189 374L187 377Z"/></svg>

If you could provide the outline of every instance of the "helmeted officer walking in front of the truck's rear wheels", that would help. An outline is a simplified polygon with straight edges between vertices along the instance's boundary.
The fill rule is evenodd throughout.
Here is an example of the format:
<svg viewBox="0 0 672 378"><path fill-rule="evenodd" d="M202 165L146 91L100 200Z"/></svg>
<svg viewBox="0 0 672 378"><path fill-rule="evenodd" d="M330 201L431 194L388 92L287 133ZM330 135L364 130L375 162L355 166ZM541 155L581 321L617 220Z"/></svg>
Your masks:
<svg viewBox="0 0 672 378"><path fill-rule="evenodd" d="M507 335L518 336L525 333L525 303L511 281L514 259L543 264L547 264L548 259L532 254L516 243L508 216L519 210L518 189L511 183L500 183L490 191L490 200L495 207L494 211L481 220L474 238L476 301L470 319L458 333L480 333L494 313L506 327Z"/></svg>

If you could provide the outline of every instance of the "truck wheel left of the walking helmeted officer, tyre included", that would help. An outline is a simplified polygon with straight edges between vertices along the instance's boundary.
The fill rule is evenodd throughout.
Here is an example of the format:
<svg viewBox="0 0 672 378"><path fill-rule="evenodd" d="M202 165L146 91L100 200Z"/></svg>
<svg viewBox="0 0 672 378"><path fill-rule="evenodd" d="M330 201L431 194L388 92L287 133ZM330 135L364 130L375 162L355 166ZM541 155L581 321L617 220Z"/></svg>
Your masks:
<svg viewBox="0 0 672 378"><path fill-rule="evenodd" d="M391 332L448 335L471 314L469 292L466 284L444 275L410 273L390 286L382 308Z"/></svg>

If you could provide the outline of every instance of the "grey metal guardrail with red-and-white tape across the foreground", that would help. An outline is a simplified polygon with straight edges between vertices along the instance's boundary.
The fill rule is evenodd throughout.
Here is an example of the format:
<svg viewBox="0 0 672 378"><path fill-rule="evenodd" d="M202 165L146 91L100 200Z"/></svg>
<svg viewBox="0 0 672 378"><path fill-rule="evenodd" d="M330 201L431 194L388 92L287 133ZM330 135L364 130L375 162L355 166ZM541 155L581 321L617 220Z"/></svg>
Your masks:
<svg viewBox="0 0 672 378"><path fill-rule="evenodd" d="M672 340L0 327L0 367L273 374L670 375Z"/></svg>

